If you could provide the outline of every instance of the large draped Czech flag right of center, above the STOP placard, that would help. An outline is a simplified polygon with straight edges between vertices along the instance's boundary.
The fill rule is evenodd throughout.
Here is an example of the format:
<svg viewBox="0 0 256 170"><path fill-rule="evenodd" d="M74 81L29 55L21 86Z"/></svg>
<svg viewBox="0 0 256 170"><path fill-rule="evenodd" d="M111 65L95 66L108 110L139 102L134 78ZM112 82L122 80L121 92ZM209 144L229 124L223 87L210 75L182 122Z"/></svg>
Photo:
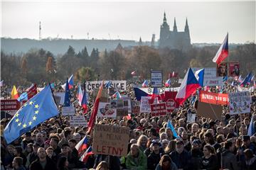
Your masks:
<svg viewBox="0 0 256 170"><path fill-rule="evenodd" d="M181 83L180 88L178 89L178 94L176 95L176 101L181 105L186 99L193 94L196 89L200 87L198 80L193 74L192 69L189 67L188 72Z"/></svg>

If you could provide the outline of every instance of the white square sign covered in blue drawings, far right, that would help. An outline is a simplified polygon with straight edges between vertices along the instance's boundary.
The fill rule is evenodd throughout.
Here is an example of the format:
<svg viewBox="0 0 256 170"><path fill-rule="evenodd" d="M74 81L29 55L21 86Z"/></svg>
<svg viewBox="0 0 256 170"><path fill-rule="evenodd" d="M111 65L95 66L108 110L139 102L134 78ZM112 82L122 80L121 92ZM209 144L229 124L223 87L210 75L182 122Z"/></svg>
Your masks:
<svg viewBox="0 0 256 170"><path fill-rule="evenodd" d="M228 94L230 100L230 115L250 113L251 96L249 91Z"/></svg>

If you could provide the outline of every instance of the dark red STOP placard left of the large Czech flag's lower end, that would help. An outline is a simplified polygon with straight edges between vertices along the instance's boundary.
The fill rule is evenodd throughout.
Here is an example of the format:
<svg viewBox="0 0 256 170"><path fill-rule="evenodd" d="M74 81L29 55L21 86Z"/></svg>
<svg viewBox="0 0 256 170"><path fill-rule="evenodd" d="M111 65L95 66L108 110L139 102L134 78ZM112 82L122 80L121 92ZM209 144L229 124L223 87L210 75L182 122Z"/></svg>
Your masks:
<svg viewBox="0 0 256 170"><path fill-rule="evenodd" d="M178 102L175 100L177 91L164 91L164 101L166 101L166 111L171 113L178 108Z"/></svg>

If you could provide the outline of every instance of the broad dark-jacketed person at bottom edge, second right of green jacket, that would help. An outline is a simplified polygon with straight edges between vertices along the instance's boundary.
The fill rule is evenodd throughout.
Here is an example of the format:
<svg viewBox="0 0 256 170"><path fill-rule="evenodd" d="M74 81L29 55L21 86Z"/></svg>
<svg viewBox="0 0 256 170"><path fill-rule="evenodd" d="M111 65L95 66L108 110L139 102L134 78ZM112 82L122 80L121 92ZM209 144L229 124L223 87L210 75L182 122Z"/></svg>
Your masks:
<svg viewBox="0 0 256 170"><path fill-rule="evenodd" d="M181 139L176 139L176 148L171 152L170 157L178 169L189 169L191 155L184 149L184 142Z"/></svg>

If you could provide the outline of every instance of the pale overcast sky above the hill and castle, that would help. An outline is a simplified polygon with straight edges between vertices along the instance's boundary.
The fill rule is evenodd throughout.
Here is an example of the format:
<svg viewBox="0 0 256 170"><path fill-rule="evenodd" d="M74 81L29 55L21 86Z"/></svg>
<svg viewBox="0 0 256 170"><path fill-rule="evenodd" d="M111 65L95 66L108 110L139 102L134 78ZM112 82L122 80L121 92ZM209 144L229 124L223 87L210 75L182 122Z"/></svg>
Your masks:
<svg viewBox="0 0 256 170"><path fill-rule="evenodd" d="M166 11L171 30L174 17L183 31L186 17L191 42L255 42L255 1L2 1L1 37L38 39L159 39Z"/></svg>

